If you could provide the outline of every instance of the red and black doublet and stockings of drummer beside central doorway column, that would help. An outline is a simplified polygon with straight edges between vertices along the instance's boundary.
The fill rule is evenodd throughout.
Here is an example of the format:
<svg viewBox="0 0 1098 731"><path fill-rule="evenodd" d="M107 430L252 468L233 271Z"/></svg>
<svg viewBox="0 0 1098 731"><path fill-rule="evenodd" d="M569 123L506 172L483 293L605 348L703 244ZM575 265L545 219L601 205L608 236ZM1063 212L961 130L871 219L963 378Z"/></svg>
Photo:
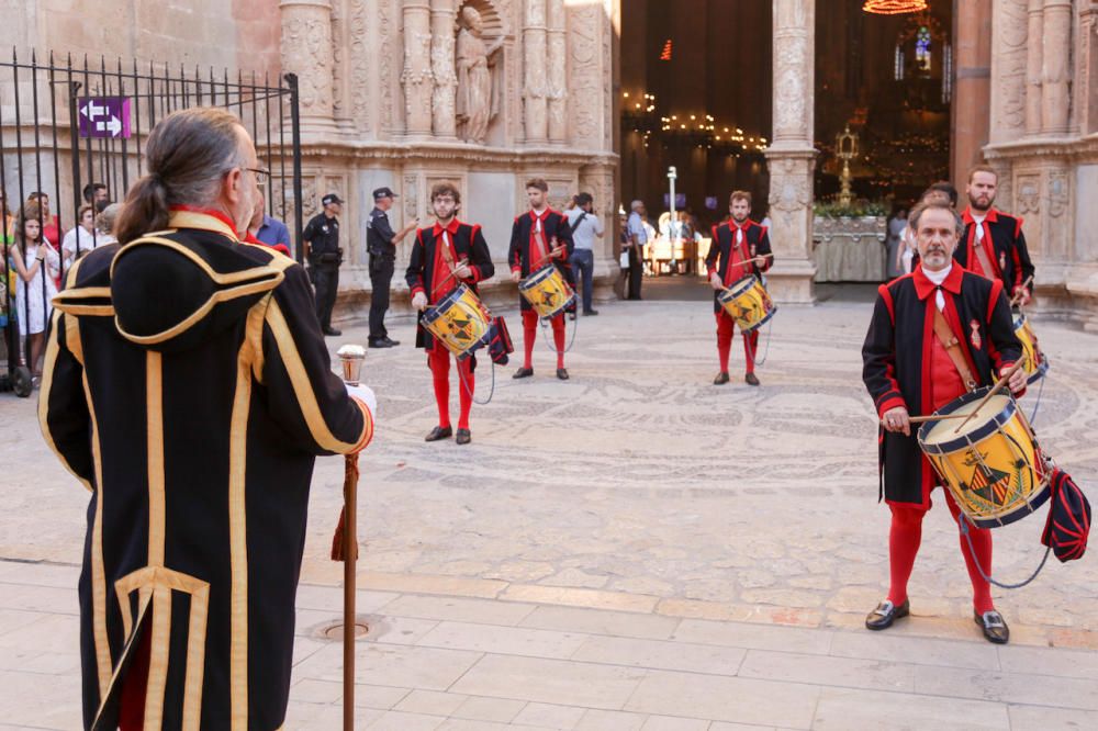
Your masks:
<svg viewBox="0 0 1098 731"><path fill-rule="evenodd" d="M735 220L713 227L713 243L705 256L706 273L720 277L725 286L750 274L761 277L774 263L773 257L763 259L762 263L743 263L749 259L764 254L771 254L770 235L766 227L750 218L742 224ZM728 352L732 345L735 320L721 306L717 299L719 292L713 293L713 312L717 319L717 357L720 360L720 372L728 371ZM759 330L743 334L743 357L747 361L747 372L754 372L754 355L759 346Z"/></svg>

